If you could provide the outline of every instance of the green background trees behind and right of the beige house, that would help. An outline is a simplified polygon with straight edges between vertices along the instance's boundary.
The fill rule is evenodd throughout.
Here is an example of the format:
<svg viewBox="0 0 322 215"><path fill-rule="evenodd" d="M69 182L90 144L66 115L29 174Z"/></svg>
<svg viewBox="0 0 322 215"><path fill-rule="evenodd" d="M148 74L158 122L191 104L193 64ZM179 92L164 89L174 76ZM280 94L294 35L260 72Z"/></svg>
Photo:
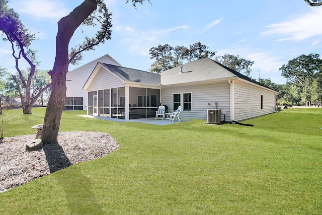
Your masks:
<svg viewBox="0 0 322 215"><path fill-rule="evenodd" d="M149 49L150 59L155 60L149 70L151 73L162 73L185 62L205 57L211 58L215 53L216 51L208 50L208 47L200 42L189 47L158 45ZM252 71L251 66L255 63L232 54L216 56L214 60L248 77ZM281 75L287 79L286 84L279 85L270 79L261 78L257 81L280 92L277 96L277 104L319 106L322 101L321 66L322 60L318 54L302 54L279 68Z"/></svg>

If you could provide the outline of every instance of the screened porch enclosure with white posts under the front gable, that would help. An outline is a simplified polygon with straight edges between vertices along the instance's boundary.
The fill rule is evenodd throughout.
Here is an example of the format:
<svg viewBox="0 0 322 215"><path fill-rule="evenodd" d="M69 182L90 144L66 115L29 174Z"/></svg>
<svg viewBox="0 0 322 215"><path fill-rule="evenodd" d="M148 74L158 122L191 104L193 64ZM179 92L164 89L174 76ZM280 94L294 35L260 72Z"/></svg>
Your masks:
<svg viewBox="0 0 322 215"><path fill-rule="evenodd" d="M160 90L119 87L88 92L88 115L119 119L155 116L160 105Z"/></svg>

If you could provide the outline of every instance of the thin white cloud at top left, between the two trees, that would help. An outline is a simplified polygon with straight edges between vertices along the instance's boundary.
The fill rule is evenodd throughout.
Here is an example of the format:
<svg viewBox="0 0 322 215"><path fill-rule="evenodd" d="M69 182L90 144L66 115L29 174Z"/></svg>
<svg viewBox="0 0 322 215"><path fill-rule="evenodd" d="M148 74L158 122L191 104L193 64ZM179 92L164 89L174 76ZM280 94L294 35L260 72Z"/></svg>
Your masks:
<svg viewBox="0 0 322 215"><path fill-rule="evenodd" d="M69 10L64 8L64 4L60 1L14 1L13 5L18 13L27 14L36 18L60 19L70 13Z"/></svg>

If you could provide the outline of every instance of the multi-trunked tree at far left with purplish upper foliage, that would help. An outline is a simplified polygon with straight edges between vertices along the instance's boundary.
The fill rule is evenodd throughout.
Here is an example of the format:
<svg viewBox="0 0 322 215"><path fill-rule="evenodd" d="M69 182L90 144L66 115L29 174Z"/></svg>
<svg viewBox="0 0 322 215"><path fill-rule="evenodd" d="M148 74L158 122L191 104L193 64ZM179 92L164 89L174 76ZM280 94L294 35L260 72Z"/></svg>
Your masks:
<svg viewBox="0 0 322 215"><path fill-rule="evenodd" d="M31 44L36 37L22 24L14 9L8 7L8 0L0 0L0 32L3 40L11 43L17 70L17 75L12 75L12 80L21 98L23 113L31 114L32 105L51 84L46 83L42 88L31 90L36 66L40 63L37 60L37 51L31 49ZM25 75L20 68L20 60L25 60L29 64L28 75Z"/></svg>

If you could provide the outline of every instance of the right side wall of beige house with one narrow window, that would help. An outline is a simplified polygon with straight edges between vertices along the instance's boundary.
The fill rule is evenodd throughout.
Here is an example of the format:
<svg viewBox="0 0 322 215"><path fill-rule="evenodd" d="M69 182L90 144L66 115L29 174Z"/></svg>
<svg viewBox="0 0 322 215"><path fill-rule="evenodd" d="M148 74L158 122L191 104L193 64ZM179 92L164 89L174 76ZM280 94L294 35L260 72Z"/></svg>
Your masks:
<svg viewBox="0 0 322 215"><path fill-rule="evenodd" d="M263 95L263 109L261 109ZM243 82L234 83L234 120L244 120L275 112L275 93Z"/></svg>

